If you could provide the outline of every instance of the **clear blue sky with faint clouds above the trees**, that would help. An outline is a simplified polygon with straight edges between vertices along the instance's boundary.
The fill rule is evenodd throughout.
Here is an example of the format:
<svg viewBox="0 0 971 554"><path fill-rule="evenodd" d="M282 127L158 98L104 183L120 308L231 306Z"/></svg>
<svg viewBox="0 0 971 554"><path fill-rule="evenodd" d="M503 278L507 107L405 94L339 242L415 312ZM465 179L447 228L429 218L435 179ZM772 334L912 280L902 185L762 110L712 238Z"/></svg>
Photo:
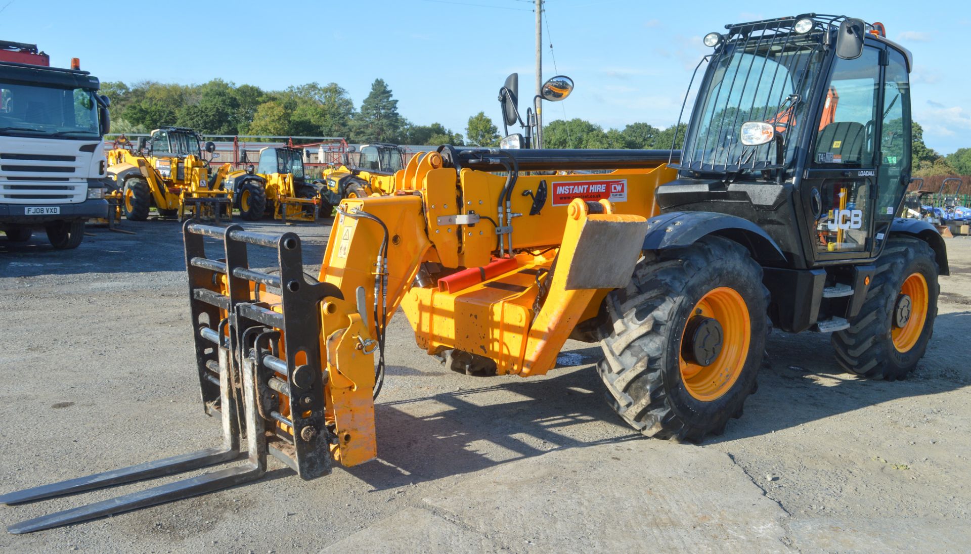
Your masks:
<svg viewBox="0 0 971 554"><path fill-rule="evenodd" d="M605 128L633 121L670 125L691 71L707 51L701 45L705 33L725 23L816 11L884 22L888 37L914 52L914 114L927 145L941 153L971 147L971 76L966 62L954 63L971 33L966 4L926 2L918 9L913 2L847 0L778 6L548 0L544 77L558 70L577 87L566 101L546 105L546 121L565 115ZM500 123L496 96L509 73L519 72L521 97L528 98L534 86L529 0L0 0L0 9L0 39L36 43L55 65L80 57L83 68L102 81L198 83L218 77L265 89L335 81L359 106L380 77L402 115L461 132L469 115L480 111Z"/></svg>

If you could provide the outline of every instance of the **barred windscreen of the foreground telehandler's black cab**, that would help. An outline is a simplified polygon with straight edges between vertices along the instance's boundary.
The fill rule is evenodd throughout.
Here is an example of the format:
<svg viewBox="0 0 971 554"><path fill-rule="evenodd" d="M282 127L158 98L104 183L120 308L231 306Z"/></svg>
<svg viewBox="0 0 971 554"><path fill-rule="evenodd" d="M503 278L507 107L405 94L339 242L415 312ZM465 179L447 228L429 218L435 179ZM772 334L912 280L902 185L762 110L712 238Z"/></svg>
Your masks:
<svg viewBox="0 0 971 554"><path fill-rule="evenodd" d="M807 99L822 66L821 32L758 28L713 56L691 115L683 169L698 172L761 170L776 166L775 145L745 147L746 121L773 123L786 139L787 160L805 123Z"/></svg>

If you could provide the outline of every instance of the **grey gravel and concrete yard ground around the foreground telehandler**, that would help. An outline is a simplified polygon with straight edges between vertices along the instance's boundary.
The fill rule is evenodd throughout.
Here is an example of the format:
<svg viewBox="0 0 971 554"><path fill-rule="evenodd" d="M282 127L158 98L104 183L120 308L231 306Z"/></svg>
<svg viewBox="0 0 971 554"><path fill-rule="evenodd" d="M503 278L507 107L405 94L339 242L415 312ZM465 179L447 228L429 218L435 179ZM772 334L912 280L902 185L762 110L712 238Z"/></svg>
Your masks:
<svg viewBox="0 0 971 554"><path fill-rule="evenodd" d="M198 401L180 226L123 228L137 235L94 228L70 251L0 239L0 492L218 442ZM318 263L329 227L291 229ZM457 375L398 317L378 461L301 481L271 458L259 482L0 533L0 549L960 551L971 540L971 241L948 248L954 275L940 279L934 337L906 381L847 375L828 337L776 332L745 416L721 437L675 444L632 433L607 406L596 346L569 342L561 361L573 367L545 377ZM145 486L0 506L0 524Z"/></svg>

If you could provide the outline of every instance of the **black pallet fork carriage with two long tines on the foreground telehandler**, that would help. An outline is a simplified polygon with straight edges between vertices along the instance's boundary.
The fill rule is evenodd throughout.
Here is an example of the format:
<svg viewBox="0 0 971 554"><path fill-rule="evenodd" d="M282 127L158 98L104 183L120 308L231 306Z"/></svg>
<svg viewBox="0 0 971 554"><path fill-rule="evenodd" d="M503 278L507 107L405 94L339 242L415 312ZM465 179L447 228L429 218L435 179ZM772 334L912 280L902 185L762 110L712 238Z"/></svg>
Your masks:
<svg viewBox="0 0 971 554"><path fill-rule="evenodd" d="M326 374L319 371L319 303L326 297L343 298L340 290L329 283L306 281L300 239L294 233L251 233L239 225L221 228L196 220L186 221L183 229L199 385L206 413L219 414L222 444L9 493L0 496L0 503L35 502L232 462L240 458L244 439L246 463L22 521L8 527L10 533L61 527L256 480L266 472L267 452L303 479L330 473L330 444L336 437L324 419ZM206 237L222 240L222 260L206 257ZM280 274L252 270L247 244L275 247ZM251 283L257 291L260 285L267 291L279 289L283 310L272 310L258 295L251 298ZM279 346L285 352L301 352L303 363L295 364L294 355L286 360L278 357ZM289 398L289 416L281 415L274 391ZM284 423L290 433L276 424L268 431L267 421Z"/></svg>

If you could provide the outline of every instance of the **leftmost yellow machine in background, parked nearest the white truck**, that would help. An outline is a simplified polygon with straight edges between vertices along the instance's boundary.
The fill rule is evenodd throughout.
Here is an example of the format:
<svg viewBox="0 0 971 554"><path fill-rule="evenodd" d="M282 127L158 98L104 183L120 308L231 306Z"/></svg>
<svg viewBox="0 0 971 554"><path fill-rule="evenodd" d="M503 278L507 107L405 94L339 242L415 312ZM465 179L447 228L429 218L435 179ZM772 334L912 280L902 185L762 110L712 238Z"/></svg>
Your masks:
<svg viewBox="0 0 971 554"><path fill-rule="evenodd" d="M154 207L159 216L178 216L180 221L186 212L197 218L231 219L232 190L222 186L229 166L213 168L202 155L201 142L192 129L161 127L135 147L125 141L110 150L108 176L115 182L110 194L120 197L125 217L144 221ZM215 149L214 143L206 143L214 158Z"/></svg>

